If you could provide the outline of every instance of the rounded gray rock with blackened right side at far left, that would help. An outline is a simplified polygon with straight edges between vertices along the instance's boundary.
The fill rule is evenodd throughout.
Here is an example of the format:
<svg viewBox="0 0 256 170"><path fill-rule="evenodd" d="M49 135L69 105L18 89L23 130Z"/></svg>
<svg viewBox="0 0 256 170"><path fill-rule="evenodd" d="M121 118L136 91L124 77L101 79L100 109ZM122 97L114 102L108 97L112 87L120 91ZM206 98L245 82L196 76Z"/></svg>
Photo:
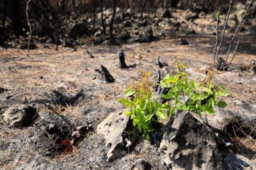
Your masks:
<svg viewBox="0 0 256 170"><path fill-rule="evenodd" d="M9 126L20 128L29 126L36 115L35 108L26 104L16 104L4 112L3 120Z"/></svg>

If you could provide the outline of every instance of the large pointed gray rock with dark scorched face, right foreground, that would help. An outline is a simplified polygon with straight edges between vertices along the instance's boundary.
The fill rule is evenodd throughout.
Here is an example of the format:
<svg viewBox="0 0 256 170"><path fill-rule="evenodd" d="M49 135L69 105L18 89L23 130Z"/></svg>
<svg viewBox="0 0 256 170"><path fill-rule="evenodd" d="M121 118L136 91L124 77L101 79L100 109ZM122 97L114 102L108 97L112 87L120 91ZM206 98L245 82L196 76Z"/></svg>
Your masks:
<svg viewBox="0 0 256 170"><path fill-rule="evenodd" d="M181 112L170 119L160 150L169 169L224 169L214 132L195 113Z"/></svg>

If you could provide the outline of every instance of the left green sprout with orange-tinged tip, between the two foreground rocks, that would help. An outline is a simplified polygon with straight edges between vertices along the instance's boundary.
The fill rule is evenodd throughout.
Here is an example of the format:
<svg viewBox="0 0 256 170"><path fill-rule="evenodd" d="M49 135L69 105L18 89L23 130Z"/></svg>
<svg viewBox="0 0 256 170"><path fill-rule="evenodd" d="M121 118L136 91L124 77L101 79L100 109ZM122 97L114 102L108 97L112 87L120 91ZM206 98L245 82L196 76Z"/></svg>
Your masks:
<svg viewBox="0 0 256 170"><path fill-rule="evenodd" d="M125 114L131 116L133 126L136 126L142 137L150 139L150 134L155 129L153 122L158 119L166 119L164 110L169 108L168 103L160 104L158 100L152 98L151 83L149 81L150 72L141 73L141 80L132 84L125 90L126 97L119 99L126 106Z"/></svg>

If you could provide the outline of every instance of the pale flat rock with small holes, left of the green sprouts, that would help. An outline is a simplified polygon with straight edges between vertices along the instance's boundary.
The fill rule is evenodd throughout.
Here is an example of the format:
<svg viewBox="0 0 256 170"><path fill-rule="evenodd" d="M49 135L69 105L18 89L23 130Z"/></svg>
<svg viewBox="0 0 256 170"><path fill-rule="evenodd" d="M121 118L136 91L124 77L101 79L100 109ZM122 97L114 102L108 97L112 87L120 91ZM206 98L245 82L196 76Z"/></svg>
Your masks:
<svg viewBox="0 0 256 170"><path fill-rule="evenodd" d="M97 133L103 134L106 139L107 161L113 161L125 154L122 133L126 128L129 117L122 111L110 113L97 127Z"/></svg>

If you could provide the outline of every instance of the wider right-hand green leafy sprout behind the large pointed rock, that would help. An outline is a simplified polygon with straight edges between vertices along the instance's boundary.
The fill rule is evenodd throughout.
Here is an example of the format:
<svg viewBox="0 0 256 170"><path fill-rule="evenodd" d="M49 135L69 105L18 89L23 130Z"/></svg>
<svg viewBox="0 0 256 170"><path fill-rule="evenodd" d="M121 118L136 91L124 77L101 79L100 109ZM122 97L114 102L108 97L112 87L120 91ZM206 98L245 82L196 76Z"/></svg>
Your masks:
<svg viewBox="0 0 256 170"><path fill-rule="evenodd" d="M219 96L227 96L228 90L222 85L214 85L211 81L210 73L203 82L196 83L188 80L185 73L185 65L178 64L179 73L175 76L167 75L160 85L163 88L170 88L167 94L163 94L165 99L174 99L170 101L170 111L167 112L171 116L175 111L193 111L201 116L202 112L210 114L215 113L214 107L226 107L227 103L218 100Z"/></svg>

